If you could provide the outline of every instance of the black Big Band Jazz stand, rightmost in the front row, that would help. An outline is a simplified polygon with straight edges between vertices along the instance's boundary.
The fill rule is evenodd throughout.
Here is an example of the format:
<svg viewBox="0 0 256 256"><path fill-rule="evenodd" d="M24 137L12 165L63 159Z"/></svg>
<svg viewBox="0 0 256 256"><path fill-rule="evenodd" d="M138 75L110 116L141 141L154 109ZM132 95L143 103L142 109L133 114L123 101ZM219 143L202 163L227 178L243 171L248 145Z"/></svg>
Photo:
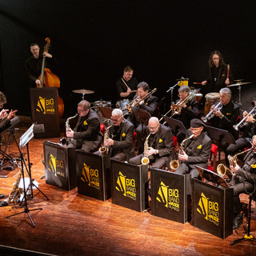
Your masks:
<svg viewBox="0 0 256 256"><path fill-rule="evenodd" d="M192 225L218 238L233 234L233 189L192 182Z"/></svg>

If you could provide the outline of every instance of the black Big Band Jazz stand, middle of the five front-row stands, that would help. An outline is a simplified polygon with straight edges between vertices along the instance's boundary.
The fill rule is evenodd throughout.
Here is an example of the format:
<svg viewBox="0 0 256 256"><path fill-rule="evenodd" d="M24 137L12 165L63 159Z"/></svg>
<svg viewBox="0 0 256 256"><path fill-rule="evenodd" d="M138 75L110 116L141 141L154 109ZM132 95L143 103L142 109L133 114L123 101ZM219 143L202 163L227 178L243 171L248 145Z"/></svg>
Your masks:
<svg viewBox="0 0 256 256"><path fill-rule="evenodd" d="M110 160L112 176L112 202L131 210L142 212L146 209L148 198L148 166L134 166Z"/></svg>

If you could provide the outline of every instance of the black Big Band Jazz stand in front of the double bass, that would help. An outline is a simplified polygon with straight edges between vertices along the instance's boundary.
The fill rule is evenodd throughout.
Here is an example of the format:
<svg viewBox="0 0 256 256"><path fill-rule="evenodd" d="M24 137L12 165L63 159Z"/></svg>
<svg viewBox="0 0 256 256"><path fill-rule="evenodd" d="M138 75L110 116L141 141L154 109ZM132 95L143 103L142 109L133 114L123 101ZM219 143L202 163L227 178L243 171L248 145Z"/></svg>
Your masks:
<svg viewBox="0 0 256 256"><path fill-rule="evenodd" d="M43 124L45 132L34 134L34 138L59 137L58 89L30 88L32 122Z"/></svg>

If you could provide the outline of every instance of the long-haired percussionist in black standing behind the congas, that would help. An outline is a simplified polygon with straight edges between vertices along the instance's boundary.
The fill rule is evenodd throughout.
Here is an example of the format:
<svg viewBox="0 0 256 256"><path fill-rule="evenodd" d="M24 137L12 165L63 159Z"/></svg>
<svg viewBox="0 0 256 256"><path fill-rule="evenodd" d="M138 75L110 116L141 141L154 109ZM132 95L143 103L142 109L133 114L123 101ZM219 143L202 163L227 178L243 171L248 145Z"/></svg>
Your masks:
<svg viewBox="0 0 256 256"><path fill-rule="evenodd" d="M214 50L210 54L208 65L210 77L202 81L202 86L206 86L202 88L202 94L218 92L234 82L233 75L228 70L228 66L225 64L222 54L218 50Z"/></svg>

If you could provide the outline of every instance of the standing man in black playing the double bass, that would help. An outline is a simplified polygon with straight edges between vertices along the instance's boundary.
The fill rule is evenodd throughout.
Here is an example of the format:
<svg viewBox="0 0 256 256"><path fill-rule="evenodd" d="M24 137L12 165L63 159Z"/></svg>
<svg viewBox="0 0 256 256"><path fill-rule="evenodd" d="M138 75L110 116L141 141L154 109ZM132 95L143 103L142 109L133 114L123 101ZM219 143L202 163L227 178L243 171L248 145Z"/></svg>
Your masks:
<svg viewBox="0 0 256 256"><path fill-rule="evenodd" d="M40 48L37 43L30 44L30 51L33 56L26 60L26 74L30 78L30 87L36 87L37 85L41 86L38 77L42 71L42 58L46 57L46 68L49 68L50 65L58 64L58 61L52 54L49 54L46 51L40 55Z"/></svg>

